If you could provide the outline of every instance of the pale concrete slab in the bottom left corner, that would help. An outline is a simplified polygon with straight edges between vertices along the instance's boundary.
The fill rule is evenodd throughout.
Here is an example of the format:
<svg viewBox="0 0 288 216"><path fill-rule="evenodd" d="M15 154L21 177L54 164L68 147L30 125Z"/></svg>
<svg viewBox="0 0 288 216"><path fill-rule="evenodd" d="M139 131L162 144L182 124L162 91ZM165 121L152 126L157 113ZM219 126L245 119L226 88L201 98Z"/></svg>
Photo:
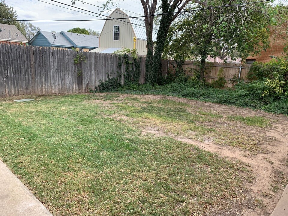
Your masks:
<svg viewBox="0 0 288 216"><path fill-rule="evenodd" d="M2 161L0 161L0 215L52 216Z"/></svg>

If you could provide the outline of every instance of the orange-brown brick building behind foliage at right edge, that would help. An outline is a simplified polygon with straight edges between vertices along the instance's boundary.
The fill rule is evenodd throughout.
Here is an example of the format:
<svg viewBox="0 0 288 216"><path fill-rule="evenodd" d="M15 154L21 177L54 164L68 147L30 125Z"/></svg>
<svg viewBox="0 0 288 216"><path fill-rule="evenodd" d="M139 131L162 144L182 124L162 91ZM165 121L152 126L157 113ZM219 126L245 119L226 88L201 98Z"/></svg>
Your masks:
<svg viewBox="0 0 288 216"><path fill-rule="evenodd" d="M270 29L269 48L266 49L266 52L261 51L257 55L247 57L246 62L253 63L254 61L259 61L266 63L271 61L272 58L270 56L276 56L276 57L284 56L285 53L283 49L285 46L287 46L288 42L287 34L285 33L287 32L287 30L288 30L287 23L285 23L285 25L283 25L280 30Z"/></svg>

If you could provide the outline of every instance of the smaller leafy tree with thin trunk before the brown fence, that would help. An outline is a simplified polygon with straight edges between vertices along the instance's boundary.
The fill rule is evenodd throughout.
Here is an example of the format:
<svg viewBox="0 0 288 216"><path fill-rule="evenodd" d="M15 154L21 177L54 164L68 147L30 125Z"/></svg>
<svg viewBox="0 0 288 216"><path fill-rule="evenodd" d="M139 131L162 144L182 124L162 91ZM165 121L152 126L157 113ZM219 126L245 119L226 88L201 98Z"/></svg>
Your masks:
<svg viewBox="0 0 288 216"><path fill-rule="evenodd" d="M178 60L200 58L200 79L208 55L226 60L227 56L235 57L235 50L242 58L256 54L268 47L267 26L272 24L270 10L261 10L262 4L257 7L221 7L187 13L171 26L164 53Z"/></svg>

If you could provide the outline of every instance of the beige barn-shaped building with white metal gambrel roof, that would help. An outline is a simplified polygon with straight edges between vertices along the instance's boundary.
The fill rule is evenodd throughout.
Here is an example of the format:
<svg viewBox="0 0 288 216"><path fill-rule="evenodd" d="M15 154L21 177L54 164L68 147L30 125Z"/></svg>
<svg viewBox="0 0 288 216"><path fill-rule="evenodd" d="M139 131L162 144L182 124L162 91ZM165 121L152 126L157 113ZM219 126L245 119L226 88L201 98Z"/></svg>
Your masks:
<svg viewBox="0 0 288 216"><path fill-rule="evenodd" d="M146 55L146 29L144 18L131 18L142 16L131 11L116 8L107 17L99 37L99 48L91 52L113 53L123 48L136 48L139 55ZM127 18L109 20L109 18ZM153 40L155 40L155 34Z"/></svg>

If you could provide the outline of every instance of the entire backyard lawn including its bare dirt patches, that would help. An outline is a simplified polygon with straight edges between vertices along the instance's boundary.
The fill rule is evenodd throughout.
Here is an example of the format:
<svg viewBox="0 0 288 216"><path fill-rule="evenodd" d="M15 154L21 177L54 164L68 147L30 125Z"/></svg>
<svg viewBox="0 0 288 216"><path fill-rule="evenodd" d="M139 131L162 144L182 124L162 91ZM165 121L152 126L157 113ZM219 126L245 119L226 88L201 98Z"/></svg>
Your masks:
<svg viewBox="0 0 288 216"><path fill-rule="evenodd" d="M268 215L287 184L288 131L271 135L285 116L168 96L30 97L0 100L0 159L53 215Z"/></svg>

